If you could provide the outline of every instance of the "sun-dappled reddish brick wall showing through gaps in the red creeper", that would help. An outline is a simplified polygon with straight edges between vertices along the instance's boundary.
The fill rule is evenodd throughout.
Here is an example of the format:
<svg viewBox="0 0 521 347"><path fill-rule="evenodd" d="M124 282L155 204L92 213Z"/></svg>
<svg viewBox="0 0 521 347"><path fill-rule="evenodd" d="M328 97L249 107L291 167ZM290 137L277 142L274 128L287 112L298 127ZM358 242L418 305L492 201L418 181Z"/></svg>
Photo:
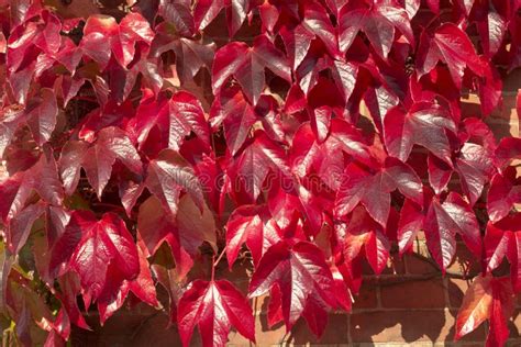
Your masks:
<svg viewBox="0 0 521 347"><path fill-rule="evenodd" d="M252 30L241 30L235 40L250 42ZM255 30L253 30L255 31ZM228 42L225 25L215 21L208 32L212 40L222 45ZM503 107L486 120L497 138L506 135L519 136L519 115L516 112L516 96L521 89L521 69L512 71L503 80ZM464 96L464 115L479 114L479 100L475 94ZM365 270L364 284L355 296L353 312L331 313L325 333L320 340L310 333L300 320L291 332L286 333L279 324L269 329L266 318L267 300L259 298L252 302L255 311L257 345L355 345L355 346L484 346L486 324L465 336L459 343L454 340L454 325L463 295L469 286L466 273L472 256L463 244L458 244L454 264L445 278L422 257L426 256L424 239L414 245L414 255L399 259L396 255L388 268L379 277ZM232 280L244 293L247 290L245 273L230 273L221 269L218 276ZM92 332L74 328L75 346L180 346L175 327L166 328L168 317L144 304L133 309L121 309L100 327L96 314L88 316ZM513 317L509 322L508 346L521 346L521 296ZM198 333L192 339L200 346ZM231 346L251 345L235 332L230 333Z"/></svg>

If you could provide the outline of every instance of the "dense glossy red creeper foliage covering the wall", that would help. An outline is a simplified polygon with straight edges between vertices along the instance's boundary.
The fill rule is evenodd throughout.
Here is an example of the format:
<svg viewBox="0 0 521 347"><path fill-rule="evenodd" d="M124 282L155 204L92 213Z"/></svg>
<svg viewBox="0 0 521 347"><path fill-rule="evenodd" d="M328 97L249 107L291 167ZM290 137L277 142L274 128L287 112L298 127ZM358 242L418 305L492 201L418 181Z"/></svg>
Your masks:
<svg viewBox="0 0 521 347"><path fill-rule="evenodd" d="M484 120L521 66L519 1L69 3L0 1L0 311L16 342L60 345L125 300L169 311L185 345L196 325L207 346L231 328L255 342L247 299L264 294L270 325L320 336L363 262L380 273L419 233L443 273L458 239L481 266L456 339L488 320L487 344L507 340L521 139ZM217 278L221 259L252 270L247 293Z"/></svg>

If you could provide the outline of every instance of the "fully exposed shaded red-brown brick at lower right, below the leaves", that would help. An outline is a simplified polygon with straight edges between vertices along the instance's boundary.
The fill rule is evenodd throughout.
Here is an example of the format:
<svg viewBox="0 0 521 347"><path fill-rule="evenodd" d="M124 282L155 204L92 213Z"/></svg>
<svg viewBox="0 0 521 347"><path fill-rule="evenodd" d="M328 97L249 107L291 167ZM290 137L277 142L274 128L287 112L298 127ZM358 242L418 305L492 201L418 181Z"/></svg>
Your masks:
<svg viewBox="0 0 521 347"><path fill-rule="evenodd" d="M380 287L383 307L434 309L445 306L445 288L442 280L397 282Z"/></svg>

